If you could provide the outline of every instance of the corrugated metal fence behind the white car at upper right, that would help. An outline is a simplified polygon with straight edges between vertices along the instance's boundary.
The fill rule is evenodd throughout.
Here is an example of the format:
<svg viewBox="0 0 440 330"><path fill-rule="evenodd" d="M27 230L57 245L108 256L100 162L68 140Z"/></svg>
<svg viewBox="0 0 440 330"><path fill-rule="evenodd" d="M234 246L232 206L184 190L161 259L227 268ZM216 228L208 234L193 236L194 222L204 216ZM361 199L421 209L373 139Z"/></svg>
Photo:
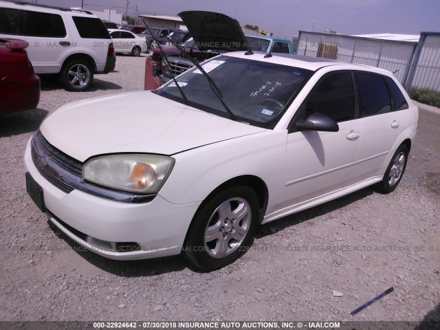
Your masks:
<svg viewBox="0 0 440 330"><path fill-rule="evenodd" d="M440 33L421 34L420 42L366 39L300 32L297 54L379 67L404 87L440 91Z"/></svg>

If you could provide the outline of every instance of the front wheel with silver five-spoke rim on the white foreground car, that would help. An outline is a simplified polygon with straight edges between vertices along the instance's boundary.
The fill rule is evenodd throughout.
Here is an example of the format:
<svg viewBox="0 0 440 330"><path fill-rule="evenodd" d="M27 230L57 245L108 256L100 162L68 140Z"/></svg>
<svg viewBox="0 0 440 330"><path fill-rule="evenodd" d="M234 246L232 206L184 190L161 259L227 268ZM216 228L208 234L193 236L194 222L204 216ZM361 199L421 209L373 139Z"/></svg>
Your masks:
<svg viewBox="0 0 440 330"><path fill-rule="evenodd" d="M250 249L259 201L248 186L228 188L201 206L184 244L184 256L200 270L217 270Z"/></svg>

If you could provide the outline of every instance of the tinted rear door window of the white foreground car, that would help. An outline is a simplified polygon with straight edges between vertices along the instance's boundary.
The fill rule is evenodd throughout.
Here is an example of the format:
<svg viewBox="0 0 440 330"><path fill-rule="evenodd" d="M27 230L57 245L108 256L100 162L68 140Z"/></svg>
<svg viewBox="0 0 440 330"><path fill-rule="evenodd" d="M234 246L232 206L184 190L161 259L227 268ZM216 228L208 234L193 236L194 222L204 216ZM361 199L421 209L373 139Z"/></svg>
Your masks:
<svg viewBox="0 0 440 330"><path fill-rule="evenodd" d="M385 80L375 74L358 74L360 116L391 111L391 100Z"/></svg>

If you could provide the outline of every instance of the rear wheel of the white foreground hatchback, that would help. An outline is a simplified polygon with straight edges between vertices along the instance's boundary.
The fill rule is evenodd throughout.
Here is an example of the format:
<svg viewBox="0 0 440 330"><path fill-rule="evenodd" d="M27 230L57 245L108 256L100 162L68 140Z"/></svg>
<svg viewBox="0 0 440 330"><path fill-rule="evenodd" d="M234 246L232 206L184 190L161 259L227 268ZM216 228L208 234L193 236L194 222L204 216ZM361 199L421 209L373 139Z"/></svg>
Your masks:
<svg viewBox="0 0 440 330"><path fill-rule="evenodd" d="M405 144L401 144L401 146L397 148L397 151L391 158L388 168L386 168L384 178L378 184L373 186L375 190L388 194L397 188L401 177L404 176L406 163L408 162L408 153L408 147Z"/></svg>

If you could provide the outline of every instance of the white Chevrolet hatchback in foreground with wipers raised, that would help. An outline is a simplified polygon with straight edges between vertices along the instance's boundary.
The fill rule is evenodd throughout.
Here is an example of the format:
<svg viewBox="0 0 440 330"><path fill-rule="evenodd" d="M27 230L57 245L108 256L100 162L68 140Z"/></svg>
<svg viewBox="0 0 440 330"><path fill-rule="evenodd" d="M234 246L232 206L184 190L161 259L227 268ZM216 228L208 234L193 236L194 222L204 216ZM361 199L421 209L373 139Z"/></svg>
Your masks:
<svg viewBox="0 0 440 330"><path fill-rule="evenodd" d="M393 74L252 52L203 71L210 82L193 67L157 91L48 115L25 167L50 221L110 259L182 253L213 270L244 254L261 223L399 184L418 110Z"/></svg>

